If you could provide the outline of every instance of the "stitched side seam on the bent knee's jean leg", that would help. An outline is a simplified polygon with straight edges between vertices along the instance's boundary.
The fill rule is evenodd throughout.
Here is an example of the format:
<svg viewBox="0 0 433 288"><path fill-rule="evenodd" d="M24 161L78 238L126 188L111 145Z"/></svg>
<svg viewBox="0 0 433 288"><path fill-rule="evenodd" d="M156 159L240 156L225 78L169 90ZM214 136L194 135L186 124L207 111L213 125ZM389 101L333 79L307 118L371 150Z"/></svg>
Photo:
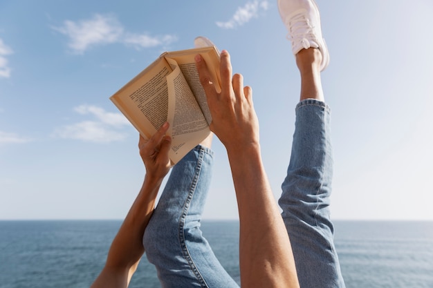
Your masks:
<svg viewBox="0 0 433 288"><path fill-rule="evenodd" d="M190 255L190 251L188 250L187 244L185 242L185 221L187 218L188 211L190 209L190 204L192 202L192 198L194 197L194 192L196 190L197 182L199 182L203 158L204 158L205 153L208 152L208 151L206 151L205 147L202 147L202 146L198 146L195 149L196 149L196 151L199 152L199 157L196 160L197 164L196 164L196 169L195 169L195 173L194 173L194 178L192 179L192 182L191 182L190 191L188 192L187 199L185 201L185 204L183 205L183 211L182 211L181 219L179 222L178 233L179 233L179 241L181 244L181 249L183 251L183 256L184 256L185 260L187 261L188 265L190 265L192 273L194 273L197 280L199 280L201 287L208 288L208 285L206 284L206 282L205 282L203 276L201 275L199 269L197 269L197 267L194 263L194 260L192 260L192 257Z"/></svg>

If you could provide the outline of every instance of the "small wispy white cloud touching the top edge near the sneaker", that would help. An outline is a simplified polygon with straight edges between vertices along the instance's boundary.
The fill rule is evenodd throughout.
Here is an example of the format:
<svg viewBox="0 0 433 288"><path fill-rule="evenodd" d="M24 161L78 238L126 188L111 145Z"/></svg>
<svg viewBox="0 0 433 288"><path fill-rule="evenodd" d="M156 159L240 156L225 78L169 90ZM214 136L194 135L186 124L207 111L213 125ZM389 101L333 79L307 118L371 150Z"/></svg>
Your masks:
<svg viewBox="0 0 433 288"><path fill-rule="evenodd" d="M216 26L225 29L233 29L248 23L252 18L259 17L260 10L268 10L268 1L252 1L243 7L237 8L232 18L225 22L216 22Z"/></svg>

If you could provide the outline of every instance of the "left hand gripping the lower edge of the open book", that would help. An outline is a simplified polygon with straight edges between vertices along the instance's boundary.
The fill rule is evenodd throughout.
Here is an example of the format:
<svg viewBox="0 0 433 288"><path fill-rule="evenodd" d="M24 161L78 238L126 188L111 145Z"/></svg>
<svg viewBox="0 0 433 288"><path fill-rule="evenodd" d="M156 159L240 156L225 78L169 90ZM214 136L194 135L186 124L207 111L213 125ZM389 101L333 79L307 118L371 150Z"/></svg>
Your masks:
<svg viewBox="0 0 433 288"><path fill-rule="evenodd" d="M149 140L140 135L138 142L140 156L146 167L146 176L156 180L162 180L172 167L168 157L172 139L165 135L168 128L169 124L165 122Z"/></svg>

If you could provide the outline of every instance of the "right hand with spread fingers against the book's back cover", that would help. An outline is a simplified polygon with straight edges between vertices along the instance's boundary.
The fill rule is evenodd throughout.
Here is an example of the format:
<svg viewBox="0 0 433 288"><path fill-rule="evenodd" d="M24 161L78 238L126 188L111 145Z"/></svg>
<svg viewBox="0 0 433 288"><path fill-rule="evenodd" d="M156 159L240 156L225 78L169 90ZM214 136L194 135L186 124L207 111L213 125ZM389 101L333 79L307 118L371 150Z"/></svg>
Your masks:
<svg viewBox="0 0 433 288"><path fill-rule="evenodd" d="M243 76L232 76L230 55L221 52L221 92L218 93L205 61L196 55L196 67L201 85L208 98L212 115L210 130L213 131L225 148L239 149L251 144L259 144L259 121L252 103L252 89L243 86Z"/></svg>

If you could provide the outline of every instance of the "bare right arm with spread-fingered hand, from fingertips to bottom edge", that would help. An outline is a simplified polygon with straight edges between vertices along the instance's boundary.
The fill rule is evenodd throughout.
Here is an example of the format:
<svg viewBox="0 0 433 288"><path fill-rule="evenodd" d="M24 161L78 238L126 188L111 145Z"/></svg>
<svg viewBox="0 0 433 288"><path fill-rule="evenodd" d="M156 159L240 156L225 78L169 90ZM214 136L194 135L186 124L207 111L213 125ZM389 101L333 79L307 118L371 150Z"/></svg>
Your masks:
<svg viewBox="0 0 433 288"><path fill-rule="evenodd" d="M221 93L205 62L196 57L201 84L212 113L211 130L227 149L240 220L243 287L299 287L286 227L261 160L259 122L252 90L242 75L232 75L230 55L221 52Z"/></svg>

